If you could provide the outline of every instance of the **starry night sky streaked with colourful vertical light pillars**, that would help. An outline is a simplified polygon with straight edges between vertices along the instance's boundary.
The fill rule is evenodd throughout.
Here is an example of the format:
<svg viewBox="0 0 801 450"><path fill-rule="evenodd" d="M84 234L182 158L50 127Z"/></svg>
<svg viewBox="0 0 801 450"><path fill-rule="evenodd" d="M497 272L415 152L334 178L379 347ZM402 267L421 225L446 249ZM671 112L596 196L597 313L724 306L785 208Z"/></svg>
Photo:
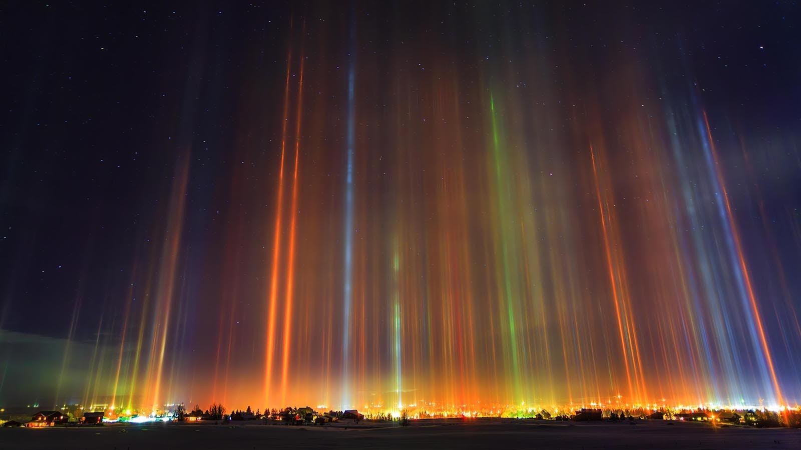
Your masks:
<svg viewBox="0 0 801 450"><path fill-rule="evenodd" d="M5 2L0 38L0 406L801 400L797 2Z"/></svg>

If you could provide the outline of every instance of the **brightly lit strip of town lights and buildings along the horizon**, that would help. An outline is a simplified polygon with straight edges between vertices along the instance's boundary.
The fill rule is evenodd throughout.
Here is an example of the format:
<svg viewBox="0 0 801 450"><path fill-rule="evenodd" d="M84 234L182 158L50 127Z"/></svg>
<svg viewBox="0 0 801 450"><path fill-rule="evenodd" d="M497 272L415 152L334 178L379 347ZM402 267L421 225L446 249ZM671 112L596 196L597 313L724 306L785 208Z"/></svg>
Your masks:
<svg viewBox="0 0 801 450"><path fill-rule="evenodd" d="M264 408L233 409L230 412L219 404L212 404L203 409L199 405L187 408L184 404L163 404L157 408L116 408L109 404L65 404L55 410L58 415L52 415L47 420L47 414L38 411L38 405L27 405L26 409L37 411L30 421L20 422L19 426L26 427L52 427L60 425L85 425L85 414L99 414L101 420L96 424L143 424L149 422L171 421L215 421L216 423L240 420L260 420L265 424L279 424L280 422L297 422L297 424L317 424L338 422L340 420L376 420L399 421L421 419L476 419L476 418L505 418L505 419L535 419L535 420L689 420L718 425L765 426L775 423L775 426L801 426L801 408L781 406L767 408L764 405L676 405L665 404L626 404L615 399L608 404L567 405L437 405L437 404L410 404L404 405L400 410L387 409L383 405L364 405L359 410L333 411L326 405L316 407L285 407L281 409ZM5 409L3 409L5 412ZM593 416L591 419L586 417ZM585 416L582 418L582 415ZM37 417L40 416L40 417Z"/></svg>

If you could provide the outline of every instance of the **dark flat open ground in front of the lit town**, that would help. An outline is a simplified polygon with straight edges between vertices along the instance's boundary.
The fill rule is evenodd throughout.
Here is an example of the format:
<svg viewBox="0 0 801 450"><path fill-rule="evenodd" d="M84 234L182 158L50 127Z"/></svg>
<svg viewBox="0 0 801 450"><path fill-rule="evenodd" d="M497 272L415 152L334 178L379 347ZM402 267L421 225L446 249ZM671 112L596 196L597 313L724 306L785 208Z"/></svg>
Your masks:
<svg viewBox="0 0 801 450"><path fill-rule="evenodd" d="M347 428L345 428L347 427ZM0 429L0 450L41 448L155 450L276 448L801 448L801 430L712 428L666 421L567 423L537 420L414 420L409 427L363 421L358 426L143 424Z"/></svg>

